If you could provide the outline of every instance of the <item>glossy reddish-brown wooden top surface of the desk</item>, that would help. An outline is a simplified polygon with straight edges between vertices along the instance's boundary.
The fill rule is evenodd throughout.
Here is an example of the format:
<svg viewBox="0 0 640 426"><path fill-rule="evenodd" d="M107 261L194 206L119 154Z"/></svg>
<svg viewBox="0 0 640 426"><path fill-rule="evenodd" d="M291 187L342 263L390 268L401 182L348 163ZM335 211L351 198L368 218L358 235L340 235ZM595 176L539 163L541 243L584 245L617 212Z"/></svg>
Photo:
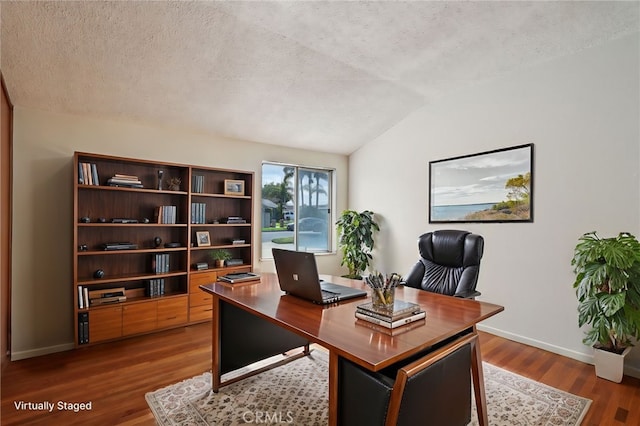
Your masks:
<svg viewBox="0 0 640 426"><path fill-rule="evenodd" d="M321 278L368 290L363 281L327 275ZM428 349L504 310L492 303L399 287L396 299L419 304L426 319L389 330L355 318L356 306L370 302L370 297L316 305L284 294L272 273L262 274L255 284L233 287L212 283L200 288L374 371Z"/></svg>

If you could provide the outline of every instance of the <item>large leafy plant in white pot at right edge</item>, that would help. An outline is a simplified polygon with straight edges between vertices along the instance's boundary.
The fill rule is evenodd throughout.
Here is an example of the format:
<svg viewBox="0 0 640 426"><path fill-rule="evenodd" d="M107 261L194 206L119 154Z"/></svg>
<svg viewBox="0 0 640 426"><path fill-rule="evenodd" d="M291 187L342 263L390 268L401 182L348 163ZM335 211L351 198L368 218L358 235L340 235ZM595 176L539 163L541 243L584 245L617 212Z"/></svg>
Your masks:
<svg viewBox="0 0 640 426"><path fill-rule="evenodd" d="M595 348L596 375L619 383L632 339L640 339L640 243L628 232L611 238L588 232L571 265L578 325L591 326L583 342Z"/></svg>

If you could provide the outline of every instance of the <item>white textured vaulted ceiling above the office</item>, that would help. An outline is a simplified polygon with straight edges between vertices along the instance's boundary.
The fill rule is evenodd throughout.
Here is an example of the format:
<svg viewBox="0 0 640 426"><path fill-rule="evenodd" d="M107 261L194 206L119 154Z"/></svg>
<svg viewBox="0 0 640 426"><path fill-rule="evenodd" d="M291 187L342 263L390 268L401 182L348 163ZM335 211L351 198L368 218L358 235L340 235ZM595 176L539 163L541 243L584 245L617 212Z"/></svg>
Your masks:
<svg viewBox="0 0 640 426"><path fill-rule="evenodd" d="M639 30L638 2L7 2L14 105L349 154L452 90Z"/></svg>

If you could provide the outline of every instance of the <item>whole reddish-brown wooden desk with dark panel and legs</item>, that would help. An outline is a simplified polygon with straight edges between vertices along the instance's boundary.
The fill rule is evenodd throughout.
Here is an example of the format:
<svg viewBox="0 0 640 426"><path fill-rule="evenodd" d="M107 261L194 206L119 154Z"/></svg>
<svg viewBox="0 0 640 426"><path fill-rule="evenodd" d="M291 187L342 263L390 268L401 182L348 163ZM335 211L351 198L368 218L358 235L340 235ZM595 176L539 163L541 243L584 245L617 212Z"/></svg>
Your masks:
<svg viewBox="0 0 640 426"><path fill-rule="evenodd" d="M334 276L322 278L366 289L362 281ZM329 306L315 305L282 293L275 274L262 274L261 281L254 285L233 287L214 283L203 285L201 289L213 296L213 390L227 384L221 383L220 378L222 374L241 367L238 362L248 365L308 342L318 343L329 350L329 424L332 426L337 425L338 417L339 357L371 371L379 371L458 333L476 333L478 322L504 310L502 306L491 303L400 287L396 298L418 303L427 317L422 326L410 324L405 326L406 329L397 328L389 332L355 318L356 305L367 299L353 299ZM241 347L229 352L230 346ZM478 344L472 350L471 370L478 418L481 425L488 425Z"/></svg>

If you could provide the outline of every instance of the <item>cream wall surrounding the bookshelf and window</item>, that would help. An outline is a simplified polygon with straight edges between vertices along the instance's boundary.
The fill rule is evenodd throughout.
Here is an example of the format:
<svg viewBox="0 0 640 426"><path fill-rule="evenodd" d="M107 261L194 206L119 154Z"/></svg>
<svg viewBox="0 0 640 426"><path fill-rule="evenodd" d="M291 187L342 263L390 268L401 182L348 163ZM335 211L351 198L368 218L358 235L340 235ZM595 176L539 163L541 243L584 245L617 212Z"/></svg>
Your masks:
<svg viewBox="0 0 640 426"><path fill-rule="evenodd" d="M253 170L260 194L261 163L280 161L335 168L337 211L346 208L348 159L273 145L190 133L185 129L15 108L13 139L13 360L73 347L72 188L74 151L205 167ZM255 197L254 223L260 223ZM260 240L255 227L254 240ZM256 270L273 270L260 262ZM322 273L341 274L337 255L319 256Z"/></svg>

